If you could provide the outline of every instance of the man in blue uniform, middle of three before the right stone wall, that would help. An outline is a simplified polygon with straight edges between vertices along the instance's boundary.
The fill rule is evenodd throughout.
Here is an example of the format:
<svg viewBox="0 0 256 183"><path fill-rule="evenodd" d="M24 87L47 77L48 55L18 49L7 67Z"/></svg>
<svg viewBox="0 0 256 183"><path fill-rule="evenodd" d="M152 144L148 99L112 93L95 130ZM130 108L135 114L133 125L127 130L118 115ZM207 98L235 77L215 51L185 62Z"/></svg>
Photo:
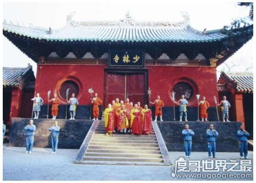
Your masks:
<svg viewBox="0 0 256 183"><path fill-rule="evenodd" d="M209 129L206 130L206 137L208 142L208 156L211 158L211 153L213 158L216 158L216 137L219 133L213 129L213 124L210 124Z"/></svg>

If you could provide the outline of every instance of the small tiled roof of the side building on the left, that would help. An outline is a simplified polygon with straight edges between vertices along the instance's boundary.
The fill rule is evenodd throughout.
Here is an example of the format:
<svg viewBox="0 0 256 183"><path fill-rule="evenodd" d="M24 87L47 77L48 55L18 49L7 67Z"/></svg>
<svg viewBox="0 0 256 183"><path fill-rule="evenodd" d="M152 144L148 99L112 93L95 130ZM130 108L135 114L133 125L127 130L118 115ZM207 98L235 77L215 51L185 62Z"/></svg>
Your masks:
<svg viewBox="0 0 256 183"><path fill-rule="evenodd" d="M3 67L3 87L22 87L31 75L34 77L31 65L25 68Z"/></svg>

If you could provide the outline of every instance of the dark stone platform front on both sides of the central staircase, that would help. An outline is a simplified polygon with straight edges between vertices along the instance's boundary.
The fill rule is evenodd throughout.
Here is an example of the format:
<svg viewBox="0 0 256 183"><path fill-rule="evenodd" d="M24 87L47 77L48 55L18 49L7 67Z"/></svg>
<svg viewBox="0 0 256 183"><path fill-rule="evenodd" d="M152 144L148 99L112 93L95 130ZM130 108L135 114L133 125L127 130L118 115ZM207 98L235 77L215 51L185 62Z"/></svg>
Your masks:
<svg viewBox="0 0 256 183"><path fill-rule="evenodd" d="M25 131L23 128L29 123L29 120L30 118L12 118L11 131L9 133L11 146L25 147ZM61 127L58 147L65 149L79 149L93 123L92 120L85 119L57 119L57 121ZM54 125L54 120L34 119L34 124L37 128L34 136L34 146L51 147L51 133L48 128ZM239 122L158 121L157 124L168 151L184 151L181 133L185 124L189 124L190 128L195 132L192 151L207 151L206 129L210 124L214 124L215 129L219 132L219 137L216 141L217 151L239 151L236 137L236 132L240 125Z"/></svg>

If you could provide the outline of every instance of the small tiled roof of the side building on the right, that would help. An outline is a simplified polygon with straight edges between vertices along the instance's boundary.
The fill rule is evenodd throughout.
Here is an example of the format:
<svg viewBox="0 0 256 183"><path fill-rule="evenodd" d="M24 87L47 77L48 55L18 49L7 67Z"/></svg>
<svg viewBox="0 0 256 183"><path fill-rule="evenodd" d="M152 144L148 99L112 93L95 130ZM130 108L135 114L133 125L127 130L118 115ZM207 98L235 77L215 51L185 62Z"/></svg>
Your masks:
<svg viewBox="0 0 256 183"><path fill-rule="evenodd" d="M253 93L253 73L222 72L220 77L237 92Z"/></svg>

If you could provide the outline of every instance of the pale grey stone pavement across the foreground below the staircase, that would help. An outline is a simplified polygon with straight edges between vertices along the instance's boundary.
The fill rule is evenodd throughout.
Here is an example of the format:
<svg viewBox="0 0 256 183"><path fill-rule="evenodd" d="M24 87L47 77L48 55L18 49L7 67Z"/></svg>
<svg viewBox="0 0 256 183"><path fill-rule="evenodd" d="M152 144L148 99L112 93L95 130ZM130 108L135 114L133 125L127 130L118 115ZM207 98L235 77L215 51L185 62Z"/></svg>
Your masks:
<svg viewBox="0 0 256 183"><path fill-rule="evenodd" d="M78 149L59 149L57 155L49 154L51 149L48 148L34 148L32 154L24 152L24 147L4 145L3 180L177 180L171 177L170 167L77 165L73 161ZM172 162L183 154L170 152ZM226 156L239 158L238 153L217 153L219 159L226 159ZM192 160L193 157L206 159L207 153L193 152ZM252 151L249 157L252 158Z"/></svg>

